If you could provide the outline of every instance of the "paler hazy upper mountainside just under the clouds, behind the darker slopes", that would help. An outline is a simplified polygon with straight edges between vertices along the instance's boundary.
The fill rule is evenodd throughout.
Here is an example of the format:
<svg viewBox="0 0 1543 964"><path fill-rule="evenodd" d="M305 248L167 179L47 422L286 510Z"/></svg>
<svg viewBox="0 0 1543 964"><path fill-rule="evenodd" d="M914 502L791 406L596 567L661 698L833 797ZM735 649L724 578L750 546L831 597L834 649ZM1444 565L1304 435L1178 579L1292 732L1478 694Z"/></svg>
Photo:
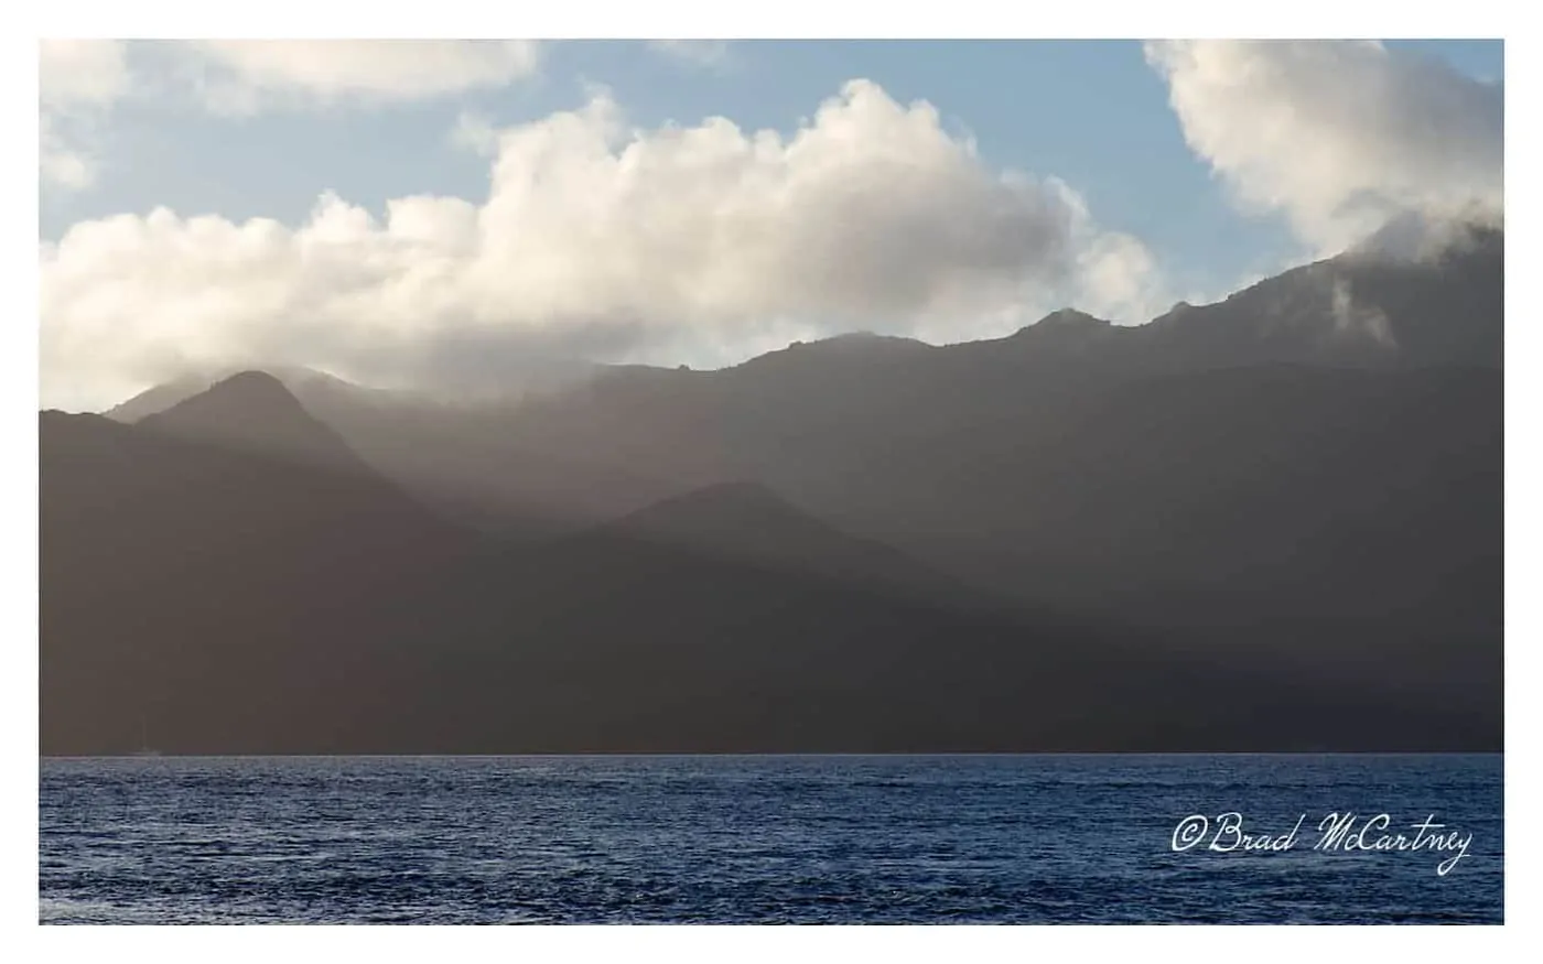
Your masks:
<svg viewBox="0 0 1543 964"><path fill-rule="evenodd" d="M1440 259L1349 253L1139 327L1057 312L1004 339L941 349L842 336L717 372L600 370L522 404L441 406L281 376L367 463L491 531L574 529L744 480L846 515L861 487L852 474L892 478L890 450L904 460L969 433L1021 452L1063 430L1068 404L1133 379L1275 364L1498 369L1503 271L1504 236L1475 230ZM895 528L867 534L887 540Z"/></svg>

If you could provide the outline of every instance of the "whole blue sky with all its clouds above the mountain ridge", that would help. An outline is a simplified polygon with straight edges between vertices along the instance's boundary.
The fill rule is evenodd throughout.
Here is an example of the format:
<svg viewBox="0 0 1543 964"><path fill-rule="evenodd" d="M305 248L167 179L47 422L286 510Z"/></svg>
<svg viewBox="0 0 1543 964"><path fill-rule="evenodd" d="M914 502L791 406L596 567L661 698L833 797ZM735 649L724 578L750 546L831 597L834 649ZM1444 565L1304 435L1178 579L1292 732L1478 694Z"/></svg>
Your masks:
<svg viewBox="0 0 1543 964"><path fill-rule="evenodd" d="M1139 324L1498 219L1503 74L1472 40L43 42L42 403Z"/></svg>

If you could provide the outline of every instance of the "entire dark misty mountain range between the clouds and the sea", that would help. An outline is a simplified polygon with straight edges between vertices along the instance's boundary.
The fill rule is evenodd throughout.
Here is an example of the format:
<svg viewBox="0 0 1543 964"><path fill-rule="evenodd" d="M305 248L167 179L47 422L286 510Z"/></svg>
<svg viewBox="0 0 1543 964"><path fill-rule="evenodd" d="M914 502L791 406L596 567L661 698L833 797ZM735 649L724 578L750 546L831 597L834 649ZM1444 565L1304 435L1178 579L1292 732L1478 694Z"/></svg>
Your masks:
<svg viewBox="0 0 1543 964"><path fill-rule="evenodd" d="M45 412L45 753L1497 750L1503 258L485 406Z"/></svg>

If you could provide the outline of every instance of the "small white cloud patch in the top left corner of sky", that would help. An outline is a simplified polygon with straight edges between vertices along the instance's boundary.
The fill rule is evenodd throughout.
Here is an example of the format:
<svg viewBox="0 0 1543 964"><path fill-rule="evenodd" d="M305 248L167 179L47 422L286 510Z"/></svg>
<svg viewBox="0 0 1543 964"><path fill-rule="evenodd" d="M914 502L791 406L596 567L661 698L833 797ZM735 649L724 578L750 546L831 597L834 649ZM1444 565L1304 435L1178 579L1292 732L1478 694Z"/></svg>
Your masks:
<svg viewBox="0 0 1543 964"><path fill-rule="evenodd" d="M37 46L39 176L79 191L96 180L100 114L131 89L117 40L42 40Z"/></svg>

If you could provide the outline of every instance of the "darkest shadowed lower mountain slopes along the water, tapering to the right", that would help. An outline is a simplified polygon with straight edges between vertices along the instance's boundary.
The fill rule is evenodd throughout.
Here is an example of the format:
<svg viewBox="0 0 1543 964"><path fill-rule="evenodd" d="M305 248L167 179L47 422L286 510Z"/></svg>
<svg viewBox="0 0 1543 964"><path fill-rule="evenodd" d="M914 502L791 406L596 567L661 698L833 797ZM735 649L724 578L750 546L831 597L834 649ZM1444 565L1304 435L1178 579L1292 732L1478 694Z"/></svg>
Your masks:
<svg viewBox="0 0 1543 964"><path fill-rule="evenodd" d="M469 546L355 474L93 416L40 435L45 753L122 753L140 725L173 753L1498 742L1463 700L616 529Z"/></svg>

